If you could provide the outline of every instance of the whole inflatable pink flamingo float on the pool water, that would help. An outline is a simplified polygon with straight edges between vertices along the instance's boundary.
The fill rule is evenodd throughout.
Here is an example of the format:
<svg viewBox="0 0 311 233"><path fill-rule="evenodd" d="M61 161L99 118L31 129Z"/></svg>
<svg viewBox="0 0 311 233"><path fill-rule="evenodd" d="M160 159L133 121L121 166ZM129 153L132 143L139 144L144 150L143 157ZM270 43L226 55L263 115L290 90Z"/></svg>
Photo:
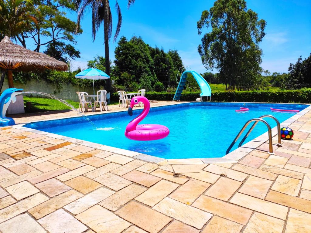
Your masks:
<svg viewBox="0 0 311 233"><path fill-rule="evenodd" d="M150 110L149 100L144 96L136 96L132 98L130 107L128 108L128 115L133 115L133 107L139 102L144 104L144 110L138 117L128 123L124 132L125 137L137 141L150 141L162 139L169 135L169 129L166 126L154 124L138 125L138 123L148 115Z"/></svg>

